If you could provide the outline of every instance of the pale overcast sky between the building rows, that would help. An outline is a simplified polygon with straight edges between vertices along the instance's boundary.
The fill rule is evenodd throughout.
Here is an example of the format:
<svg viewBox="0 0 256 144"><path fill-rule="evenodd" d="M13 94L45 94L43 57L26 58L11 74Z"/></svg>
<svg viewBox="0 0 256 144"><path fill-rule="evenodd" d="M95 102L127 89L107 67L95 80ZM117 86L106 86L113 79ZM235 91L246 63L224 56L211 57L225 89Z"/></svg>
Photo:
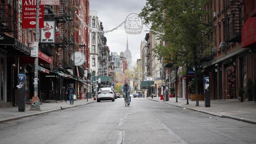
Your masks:
<svg viewBox="0 0 256 144"><path fill-rule="evenodd" d="M111 30L121 24L130 13L140 13L146 0L90 0L90 10L98 11L98 18L102 22L104 31ZM128 34L129 50L132 61L140 59L141 40L145 39L148 28L143 26L141 34ZM105 33L107 45L111 52L124 52L126 49L126 31L124 24L119 29Z"/></svg>

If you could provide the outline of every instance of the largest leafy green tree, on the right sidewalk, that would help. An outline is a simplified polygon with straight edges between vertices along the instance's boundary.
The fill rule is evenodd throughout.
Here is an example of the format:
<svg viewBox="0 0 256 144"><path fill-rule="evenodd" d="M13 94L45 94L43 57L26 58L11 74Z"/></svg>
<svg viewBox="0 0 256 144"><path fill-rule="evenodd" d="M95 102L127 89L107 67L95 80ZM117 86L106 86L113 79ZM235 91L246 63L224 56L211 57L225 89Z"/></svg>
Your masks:
<svg viewBox="0 0 256 144"><path fill-rule="evenodd" d="M196 106L199 106L198 66L200 60L211 52L209 35L213 25L206 20L212 19L210 11L205 10L209 2L211 0L147 0L139 14L145 24L151 24L152 32L158 34L161 41L169 42L170 47L175 50L186 51L182 60L195 67ZM173 59L173 55L170 54L169 59Z"/></svg>

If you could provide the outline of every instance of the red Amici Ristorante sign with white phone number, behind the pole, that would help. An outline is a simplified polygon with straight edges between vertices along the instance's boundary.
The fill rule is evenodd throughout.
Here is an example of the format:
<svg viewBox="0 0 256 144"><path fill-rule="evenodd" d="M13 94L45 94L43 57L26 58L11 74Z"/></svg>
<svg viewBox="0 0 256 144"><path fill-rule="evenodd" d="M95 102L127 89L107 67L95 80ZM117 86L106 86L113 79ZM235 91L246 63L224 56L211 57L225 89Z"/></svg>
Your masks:
<svg viewBox="0 0 256 144"><path fill-rule="evenodd" d="M35 28L36 0L22 0L22 28ZM40 1L39 1L40 2ZM39 28L44 27L44 5L39 6Z"/></svg>

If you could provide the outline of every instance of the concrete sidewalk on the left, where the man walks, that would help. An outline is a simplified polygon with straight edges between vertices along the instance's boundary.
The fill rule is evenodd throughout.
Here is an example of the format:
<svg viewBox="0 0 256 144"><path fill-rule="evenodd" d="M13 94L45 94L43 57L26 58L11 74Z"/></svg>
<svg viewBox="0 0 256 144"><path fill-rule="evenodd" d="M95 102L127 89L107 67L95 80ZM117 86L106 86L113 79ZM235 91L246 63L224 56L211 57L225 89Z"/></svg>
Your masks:
<svg viewBox="0 0 256 144"><path fill-rule="evenodd" d="M76 100L74 101L74 105L70 105L69 101L67 101L67 104L65 101L61 103L42 103L40 105L41 111L30 111L30 105L26 105L25 112L19 112L18 107L1 107L0 108L0 123L11 121L11 120L17 120L20 118L26 118L28 116L35 116L38 114L43 113L49 113L51 111L57 111L60 110L60 107L63 108L70 108L70 107L77 107L89 103L96 102L95 100L88 99L87 100Z"/></svg>

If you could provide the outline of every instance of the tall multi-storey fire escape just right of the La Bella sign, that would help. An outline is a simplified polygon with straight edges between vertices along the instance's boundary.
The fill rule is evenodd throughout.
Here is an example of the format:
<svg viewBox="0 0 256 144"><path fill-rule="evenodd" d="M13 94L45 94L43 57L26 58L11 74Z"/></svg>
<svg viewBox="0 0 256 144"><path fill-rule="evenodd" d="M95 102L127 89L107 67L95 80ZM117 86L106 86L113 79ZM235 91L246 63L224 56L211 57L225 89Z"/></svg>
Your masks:
<svg viewBox="0 0 256 144"><path fill-rule="evenodd" d="M56 40L58 46L58 58L56 65L61 70L73 69L74 62L71 55L74 54L74 36L73 32L78 31L78 22L75 19L74 11L78 10L78 0L60 0L56 22L59 30L59 36Z"/></svg>

